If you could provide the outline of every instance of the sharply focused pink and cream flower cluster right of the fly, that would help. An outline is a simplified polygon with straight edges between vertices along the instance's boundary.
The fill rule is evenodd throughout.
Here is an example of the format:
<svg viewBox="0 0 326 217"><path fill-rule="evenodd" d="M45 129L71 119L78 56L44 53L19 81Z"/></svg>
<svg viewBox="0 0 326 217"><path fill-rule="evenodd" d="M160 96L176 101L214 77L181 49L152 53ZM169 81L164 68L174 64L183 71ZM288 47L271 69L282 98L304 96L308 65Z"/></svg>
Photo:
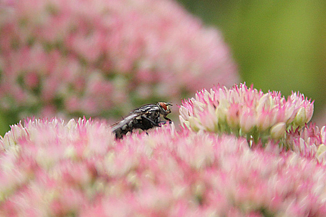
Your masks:
<svg viewBox="0 0 326 217"><path fill-rule="evenodd" d="M196 98L184 100L180 122L189 129L228 133L263 142L281 139L286 130L302 128L313 114L313 102L299 92L286 100L280 92L247 87L214 86L203 89Z"/></svg>

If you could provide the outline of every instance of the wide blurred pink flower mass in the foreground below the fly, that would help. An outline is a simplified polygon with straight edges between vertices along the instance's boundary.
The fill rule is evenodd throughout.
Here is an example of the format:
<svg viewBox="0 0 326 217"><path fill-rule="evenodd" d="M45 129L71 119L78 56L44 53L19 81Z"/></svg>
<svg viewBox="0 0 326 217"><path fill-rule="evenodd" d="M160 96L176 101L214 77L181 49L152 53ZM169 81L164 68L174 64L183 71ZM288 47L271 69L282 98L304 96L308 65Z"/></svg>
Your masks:
<svg viewBox="0 0 326 217"><path fill-rule="evenodd" d="M0 144L1 215L326 215L316 160L232 135L170 125L115 141L105 123L36 119Z"/></svg>

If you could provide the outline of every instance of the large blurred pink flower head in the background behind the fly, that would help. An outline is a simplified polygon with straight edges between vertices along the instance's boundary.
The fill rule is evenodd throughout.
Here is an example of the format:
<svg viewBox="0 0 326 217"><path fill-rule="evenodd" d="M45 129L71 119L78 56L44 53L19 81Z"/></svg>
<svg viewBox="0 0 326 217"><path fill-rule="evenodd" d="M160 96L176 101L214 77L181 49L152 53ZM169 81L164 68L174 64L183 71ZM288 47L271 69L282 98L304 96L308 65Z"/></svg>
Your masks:
<svg viewBox="0 0 326 217"><path fill-rule="evenodd" d="M174 1L0 4L0 105L19 117L121 115L238 80L218 30Z"/></svg>

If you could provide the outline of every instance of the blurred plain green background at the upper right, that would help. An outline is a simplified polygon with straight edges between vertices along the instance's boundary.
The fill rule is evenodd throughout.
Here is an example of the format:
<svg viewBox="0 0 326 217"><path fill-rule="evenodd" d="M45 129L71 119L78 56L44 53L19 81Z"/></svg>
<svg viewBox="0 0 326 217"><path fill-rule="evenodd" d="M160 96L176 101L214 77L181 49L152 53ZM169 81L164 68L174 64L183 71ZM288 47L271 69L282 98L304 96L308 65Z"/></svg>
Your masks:
<svg viewBox="0 0 326 217"><path fill-rule="evenodd" d="M179 2L221 30L242 81L284 96L302 92L315 100L313 121L325 125L326 1Z"/></svg>

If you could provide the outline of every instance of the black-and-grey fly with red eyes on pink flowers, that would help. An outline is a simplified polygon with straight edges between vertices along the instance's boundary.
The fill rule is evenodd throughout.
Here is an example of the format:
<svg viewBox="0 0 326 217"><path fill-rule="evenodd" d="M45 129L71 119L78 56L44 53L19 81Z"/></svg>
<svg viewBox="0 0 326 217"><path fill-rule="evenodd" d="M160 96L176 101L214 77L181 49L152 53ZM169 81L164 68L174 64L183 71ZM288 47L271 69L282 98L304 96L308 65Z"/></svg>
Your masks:
<svg viewBox="0 0 326 217"><path fill-rule="evenodd" d="M167 115L171 113L169 106L172 106L172 104L158 102L157 104L137 108L131 111L123 120L116 123L112 128L112 132L116 134L117 139L121 139L128 132L132 132L133 129L148 130L160 127L162 123L168 121L171 123L171 119L167 118Z"/></svg>

